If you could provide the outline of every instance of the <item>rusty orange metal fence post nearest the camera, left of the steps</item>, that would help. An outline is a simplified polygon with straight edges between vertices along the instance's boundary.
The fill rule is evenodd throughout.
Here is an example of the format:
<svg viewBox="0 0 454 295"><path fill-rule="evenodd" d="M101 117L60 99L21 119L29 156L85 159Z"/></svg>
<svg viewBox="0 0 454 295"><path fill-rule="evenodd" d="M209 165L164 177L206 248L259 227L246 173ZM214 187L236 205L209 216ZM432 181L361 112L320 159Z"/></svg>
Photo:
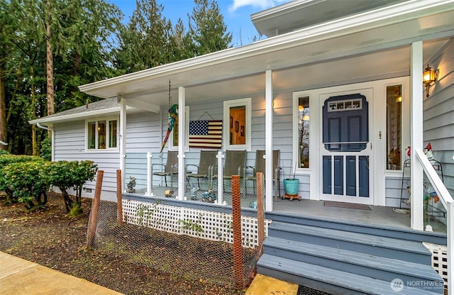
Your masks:
<svg viewBox="0 0 454 295"><path fill-rule="evenodd" d="M243 289L243 242L241 232L240 176L232 176L233 277L236 289Z"/></svg>

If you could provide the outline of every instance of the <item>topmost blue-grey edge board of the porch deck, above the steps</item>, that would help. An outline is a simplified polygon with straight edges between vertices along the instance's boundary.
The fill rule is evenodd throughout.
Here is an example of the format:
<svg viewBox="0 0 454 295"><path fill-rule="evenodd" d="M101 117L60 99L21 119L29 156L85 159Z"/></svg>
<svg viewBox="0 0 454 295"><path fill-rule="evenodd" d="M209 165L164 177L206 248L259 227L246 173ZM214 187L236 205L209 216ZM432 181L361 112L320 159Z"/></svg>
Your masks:
<svg viewBox="0 0 454 295"><path fill-rule="evenodd" d="M338 221L335 219L301 216L291 213L267 212L266 218L272 221L301 224L304 226L316 226L317 228L331 228L353 233L367 233L369 235L377 235L386 238L398 238L400 240L413 240L415 242L447 245L445 233L412 230L410 228L393 228L390 226L355 223L351 221Z"/></svg>

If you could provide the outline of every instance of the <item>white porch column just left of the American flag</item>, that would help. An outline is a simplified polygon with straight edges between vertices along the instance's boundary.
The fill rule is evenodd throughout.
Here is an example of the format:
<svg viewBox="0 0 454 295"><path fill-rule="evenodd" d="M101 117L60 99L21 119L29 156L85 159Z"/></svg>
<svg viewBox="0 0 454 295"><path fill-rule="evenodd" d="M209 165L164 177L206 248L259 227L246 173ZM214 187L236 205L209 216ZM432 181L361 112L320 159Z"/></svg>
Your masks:
<svg viewBox="0 0 454 295"><path fill-rule="evenodd" d="M184 106L186 105L186 89L178 87L178 196L177 199L184 199L184 187L186 187L186 166L184 165L184 130L186 128L186 113Z"/></svg>

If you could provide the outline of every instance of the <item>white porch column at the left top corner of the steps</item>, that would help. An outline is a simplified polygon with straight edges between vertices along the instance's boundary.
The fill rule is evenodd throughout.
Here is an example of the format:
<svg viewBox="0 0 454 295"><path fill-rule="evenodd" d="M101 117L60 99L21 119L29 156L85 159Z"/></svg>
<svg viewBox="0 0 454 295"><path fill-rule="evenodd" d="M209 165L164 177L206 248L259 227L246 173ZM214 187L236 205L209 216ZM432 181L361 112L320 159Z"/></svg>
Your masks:
<svg viewBox="0 0 454 295"><path fill-rule="evenodd" d="M272 211L272 70L265 72L265 211Z"/></svg>

